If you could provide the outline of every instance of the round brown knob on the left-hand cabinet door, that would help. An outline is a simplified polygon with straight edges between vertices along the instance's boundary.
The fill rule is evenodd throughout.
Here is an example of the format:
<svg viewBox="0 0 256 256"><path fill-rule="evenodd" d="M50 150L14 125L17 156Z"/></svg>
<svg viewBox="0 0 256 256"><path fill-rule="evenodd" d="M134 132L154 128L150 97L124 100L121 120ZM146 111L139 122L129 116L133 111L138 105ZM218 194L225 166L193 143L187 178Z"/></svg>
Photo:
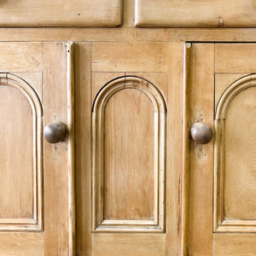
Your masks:
<svg viewBox="0 0 256 256"><path fill-rule="evenodd" d="M55 122L44 127L44 138L49 143L59 143L67 135L67 125L62 122Z"/></svg>

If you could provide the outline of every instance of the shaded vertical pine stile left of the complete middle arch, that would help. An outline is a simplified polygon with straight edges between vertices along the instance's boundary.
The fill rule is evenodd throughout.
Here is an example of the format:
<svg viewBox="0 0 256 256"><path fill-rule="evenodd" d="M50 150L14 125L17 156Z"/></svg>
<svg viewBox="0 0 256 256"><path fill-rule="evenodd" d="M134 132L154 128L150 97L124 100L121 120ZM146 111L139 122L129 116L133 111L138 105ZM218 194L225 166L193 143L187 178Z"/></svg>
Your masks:
<svg viewBox="0 0 256 256"><path fill-rule="evenodd" d="M77 255L90 255L90 43L74 45Z"/></svg>

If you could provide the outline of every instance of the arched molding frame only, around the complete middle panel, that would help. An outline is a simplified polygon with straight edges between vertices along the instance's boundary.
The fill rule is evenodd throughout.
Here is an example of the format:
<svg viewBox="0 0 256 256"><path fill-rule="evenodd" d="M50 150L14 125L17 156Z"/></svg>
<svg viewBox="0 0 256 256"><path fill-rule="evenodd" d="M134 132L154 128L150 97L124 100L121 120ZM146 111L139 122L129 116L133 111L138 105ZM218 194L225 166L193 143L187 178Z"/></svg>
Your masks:
<svg viewBox="0 0 256 256"><path fill-rule="evenodd" d="M152 104L154 183L152 218L105 218L104 216L104 125L105 108L119 91L143 92ZM136 143L136 142L135 142ZM129 161L129 159L128 159ZM165 162L166 162L166 103L160 91L145 79L123 76L102 87L92 108L92 231L94 232L163 232L165 230ZM133 189L133 188L132 188ZM136 188L134 188L136 189ZM129 195L128 195L129 196Z"/></svg>

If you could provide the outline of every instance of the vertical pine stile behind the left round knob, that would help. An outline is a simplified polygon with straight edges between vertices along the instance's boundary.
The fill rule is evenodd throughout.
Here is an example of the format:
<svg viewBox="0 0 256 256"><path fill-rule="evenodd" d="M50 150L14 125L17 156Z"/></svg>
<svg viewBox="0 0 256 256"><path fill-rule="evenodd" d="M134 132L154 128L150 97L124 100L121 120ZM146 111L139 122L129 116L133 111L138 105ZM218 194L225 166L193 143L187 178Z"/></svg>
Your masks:
<svg viewBox="0 0 256 256"><path fill-rule="evenodd" d="M67 124L66 44L44 43L43 49L44 125L55 120ZM68 255L67 173L67 141L44 141L45 255Z"/></svg>

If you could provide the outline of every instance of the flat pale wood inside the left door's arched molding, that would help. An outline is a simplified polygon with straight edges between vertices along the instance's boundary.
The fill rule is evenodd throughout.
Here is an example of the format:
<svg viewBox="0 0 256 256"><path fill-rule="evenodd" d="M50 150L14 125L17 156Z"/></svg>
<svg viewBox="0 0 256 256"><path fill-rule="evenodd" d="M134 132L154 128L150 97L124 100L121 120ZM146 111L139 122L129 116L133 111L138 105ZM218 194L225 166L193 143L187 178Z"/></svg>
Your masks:
<svg viewBox="0 0 256 256"><path fill-rule="evenodd" d="M32 108L19 90L0 85L0 119L0 218L32 218Z"/></svg>

